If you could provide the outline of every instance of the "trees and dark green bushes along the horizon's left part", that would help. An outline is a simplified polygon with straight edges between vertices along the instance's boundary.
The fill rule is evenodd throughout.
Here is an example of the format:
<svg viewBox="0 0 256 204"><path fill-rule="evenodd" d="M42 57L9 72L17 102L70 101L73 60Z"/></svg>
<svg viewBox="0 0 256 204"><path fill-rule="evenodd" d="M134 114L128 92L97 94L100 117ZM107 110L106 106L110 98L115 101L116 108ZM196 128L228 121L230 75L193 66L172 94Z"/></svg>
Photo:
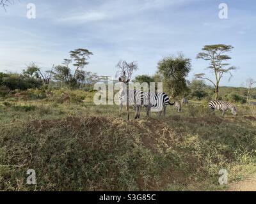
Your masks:
<svg viewBox="0 0 256 204"><path fill-rule="evenodd" d="M35 62L31 62L20 74L0 73L0 91L3 95L3 92L8 94L16 89L47 89L49 84L70 89L93 89L95 83L104 82L108 77L84 70L89 64L90 55L92 52L79 48L70 51L70 59L64 59L63 64L52 65L52 68L46 71L39 68Z"/></svg>

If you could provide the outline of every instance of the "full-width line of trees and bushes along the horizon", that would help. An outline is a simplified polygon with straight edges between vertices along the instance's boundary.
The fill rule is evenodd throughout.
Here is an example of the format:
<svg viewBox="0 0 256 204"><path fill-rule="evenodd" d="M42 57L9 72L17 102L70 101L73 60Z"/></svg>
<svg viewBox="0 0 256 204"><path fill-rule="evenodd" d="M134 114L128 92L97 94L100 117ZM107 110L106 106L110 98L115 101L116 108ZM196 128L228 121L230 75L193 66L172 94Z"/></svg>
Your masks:
<svg viewBox="0 0 256 204"><path fill-rule="evenodd" d="M221 87L220 90L223 76L228 73L232 77L232 71L236 69L227 62L231 58L226 53L230 52L232 48L231 45L206 45L202 49L203 51L197 55L198 59L209 61L207 69L212 71L214 79L207 77L205 73L200 73L196 74L193 80L186 80L191 71L191 59L179 53L176 56L164 57L159 61L155 75L140 75L135 77L133 82L146 82L148 84L150 82L163 82L164 92L173 99L183 97L198 100L215 98L241 103L256 99L254 89L256 81L252 78L246 80L246 88L230 91L233 88ZM0 73L0 96L16 89L21 91L48 89L49 85L57 88L93 90L95 83L107 82L108 77L84 70L92 55L93 53L89 50L79 48L70 51L70 58L64 59L62 64L52 65L46 71L38 67L35 62L31 62L20 74ZM132 72L138 69L138 64L120 61L116 67L118 68L118 75L131 80ZM213 86L205 84L204 80L211 82Z"/></svg>

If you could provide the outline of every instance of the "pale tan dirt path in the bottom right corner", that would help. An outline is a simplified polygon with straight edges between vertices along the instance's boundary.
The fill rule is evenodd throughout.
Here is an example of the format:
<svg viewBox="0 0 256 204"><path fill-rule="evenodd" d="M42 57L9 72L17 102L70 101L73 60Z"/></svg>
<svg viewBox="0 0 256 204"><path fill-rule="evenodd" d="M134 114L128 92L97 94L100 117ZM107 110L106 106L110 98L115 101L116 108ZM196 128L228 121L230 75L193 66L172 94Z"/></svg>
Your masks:
<svg viewBox="0 0 256 204"><path fill-rule="evenodd" d="M256 176L230 184L228 191L256 191Z"/></svg>

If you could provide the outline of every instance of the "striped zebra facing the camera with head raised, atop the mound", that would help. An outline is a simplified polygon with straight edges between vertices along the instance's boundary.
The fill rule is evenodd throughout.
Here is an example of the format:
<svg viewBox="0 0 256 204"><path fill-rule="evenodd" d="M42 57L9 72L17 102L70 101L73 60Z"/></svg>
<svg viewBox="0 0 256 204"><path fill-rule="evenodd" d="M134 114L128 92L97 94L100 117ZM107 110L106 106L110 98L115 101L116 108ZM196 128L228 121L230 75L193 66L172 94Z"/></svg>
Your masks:
<svg viewBox="0 0 256 204"><path fill-rule="evenodd" d="M120 110L119 110L119 117L121 117L122 108L124 105L134 105L134 110L136 110L134 119L140 119L140 112L141 112L141 105L143 103L143 92L142 91L135 91L128 89L127 85L129 84L130 80L122 80L119 78L120 86L119 86L119 95L118 99L120 102ZM127 99L127 92L128 92L128 99ZM127 103L128 102L128 103ZM129 120L129 106L126 108L127 110L127 119Z"/></svg>

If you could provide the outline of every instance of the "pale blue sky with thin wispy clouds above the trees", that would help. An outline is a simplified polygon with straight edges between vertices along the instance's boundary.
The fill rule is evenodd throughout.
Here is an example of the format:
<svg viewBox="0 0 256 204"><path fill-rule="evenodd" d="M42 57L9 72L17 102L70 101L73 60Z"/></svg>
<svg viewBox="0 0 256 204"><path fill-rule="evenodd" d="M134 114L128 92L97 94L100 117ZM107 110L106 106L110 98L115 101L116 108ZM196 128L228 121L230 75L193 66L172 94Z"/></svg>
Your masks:
<svg viewBox="0 0 256 204"><path fill-rule="evenodd" d="M29 19L28 4L36 18ZM219 17L219 5L228 6L228 18ZM87 71L115 77L120 60L136 61L137 75L154 75L163 57L183 52L195 73L207 62L196 59L204 45L234 46L230 64L238 69L221 85L241 86L256 79L255 0L14 0L0 8L0 72L20 72L29 62L43 70L61 64L68 52L93 52Z"/></svg>

